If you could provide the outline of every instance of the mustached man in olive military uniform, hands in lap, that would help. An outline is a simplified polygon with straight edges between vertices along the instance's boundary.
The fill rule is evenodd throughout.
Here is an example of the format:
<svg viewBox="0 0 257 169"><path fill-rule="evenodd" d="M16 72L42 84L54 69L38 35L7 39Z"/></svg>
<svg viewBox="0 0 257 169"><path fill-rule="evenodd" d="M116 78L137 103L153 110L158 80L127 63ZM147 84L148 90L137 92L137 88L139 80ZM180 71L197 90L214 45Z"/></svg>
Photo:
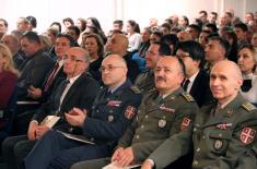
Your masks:
<svg viewBox="0 0 257 169"><path fill-rule="evenodd" d="M112 164L125 167L142 162L168 137L183 133L191 138L192 121L197 104L180 88L185 68L175 57L163 57L155 69L156 89L145 95L136 120L128 128L110 159ZM187 147L187 145L183 145ZM182 156L185 152L176 152ZM79 162L72 169L97 169L107 159Z"/></svg>

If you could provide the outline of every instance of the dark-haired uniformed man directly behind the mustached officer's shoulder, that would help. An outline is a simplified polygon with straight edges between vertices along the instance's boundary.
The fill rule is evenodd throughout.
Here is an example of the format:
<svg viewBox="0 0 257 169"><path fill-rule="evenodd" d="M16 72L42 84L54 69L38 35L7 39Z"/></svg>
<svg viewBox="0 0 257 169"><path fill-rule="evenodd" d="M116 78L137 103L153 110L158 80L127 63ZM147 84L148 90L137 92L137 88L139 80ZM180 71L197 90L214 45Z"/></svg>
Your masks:
<svg viewBox="0 0 257 169"><path fill-rule="evenodd" d="M171 49L166 44L151 44L145 53L148 70L140 73L135 81L135 85L140 89L142 94L147 94L149 90L155 88L153 71L161 57L168 56L170 53Z"/></svg>

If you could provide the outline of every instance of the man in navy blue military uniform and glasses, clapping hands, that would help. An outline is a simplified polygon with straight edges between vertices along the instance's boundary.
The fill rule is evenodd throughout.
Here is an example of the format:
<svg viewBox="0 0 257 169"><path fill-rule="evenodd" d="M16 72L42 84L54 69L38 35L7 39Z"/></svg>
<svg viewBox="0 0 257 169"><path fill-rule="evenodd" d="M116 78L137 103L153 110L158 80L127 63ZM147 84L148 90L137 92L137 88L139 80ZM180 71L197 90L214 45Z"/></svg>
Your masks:
<svg viewBox="0 0 257 169"><path fill-rule="evenodd" d="M101 71L107 87L96 96L92 112L73 108L66 113L66 120L73 126L82 128L83 135L95 144L75 142L52 130L38 141L25 158L26 169L67 169L80 160L110 155L136 117L141 94L127 79L127 65L120 56L105 58Z"/></svg>

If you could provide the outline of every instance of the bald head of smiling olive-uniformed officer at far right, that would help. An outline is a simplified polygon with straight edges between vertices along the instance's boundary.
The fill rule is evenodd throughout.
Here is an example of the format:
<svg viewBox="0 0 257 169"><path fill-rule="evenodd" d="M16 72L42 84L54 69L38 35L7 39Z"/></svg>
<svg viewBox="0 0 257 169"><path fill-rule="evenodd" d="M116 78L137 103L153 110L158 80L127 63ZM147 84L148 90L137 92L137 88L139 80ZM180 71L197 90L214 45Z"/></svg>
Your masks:
<svg viewBox="0 0 257 169"><path fill-rule="evenodd" d="M214 98L223 105L234 99L243 83L237 64L232 61L219 61L210 73L210 88Z"/></svg>

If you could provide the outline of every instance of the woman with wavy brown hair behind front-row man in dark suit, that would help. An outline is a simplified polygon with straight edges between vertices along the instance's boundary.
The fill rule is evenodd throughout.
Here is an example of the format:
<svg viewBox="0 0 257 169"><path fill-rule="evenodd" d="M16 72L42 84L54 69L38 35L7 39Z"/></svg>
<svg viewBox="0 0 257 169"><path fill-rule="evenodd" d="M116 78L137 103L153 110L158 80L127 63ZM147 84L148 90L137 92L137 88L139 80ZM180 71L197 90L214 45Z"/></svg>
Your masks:
<svg viewBox="0 0 257 169"><path fill-rule="evenodd" d="M101 81L100 67L103 61L104 44L97 34L82 36L81 47L86 49L90 55L89 72L96 81Z"/></svg>

